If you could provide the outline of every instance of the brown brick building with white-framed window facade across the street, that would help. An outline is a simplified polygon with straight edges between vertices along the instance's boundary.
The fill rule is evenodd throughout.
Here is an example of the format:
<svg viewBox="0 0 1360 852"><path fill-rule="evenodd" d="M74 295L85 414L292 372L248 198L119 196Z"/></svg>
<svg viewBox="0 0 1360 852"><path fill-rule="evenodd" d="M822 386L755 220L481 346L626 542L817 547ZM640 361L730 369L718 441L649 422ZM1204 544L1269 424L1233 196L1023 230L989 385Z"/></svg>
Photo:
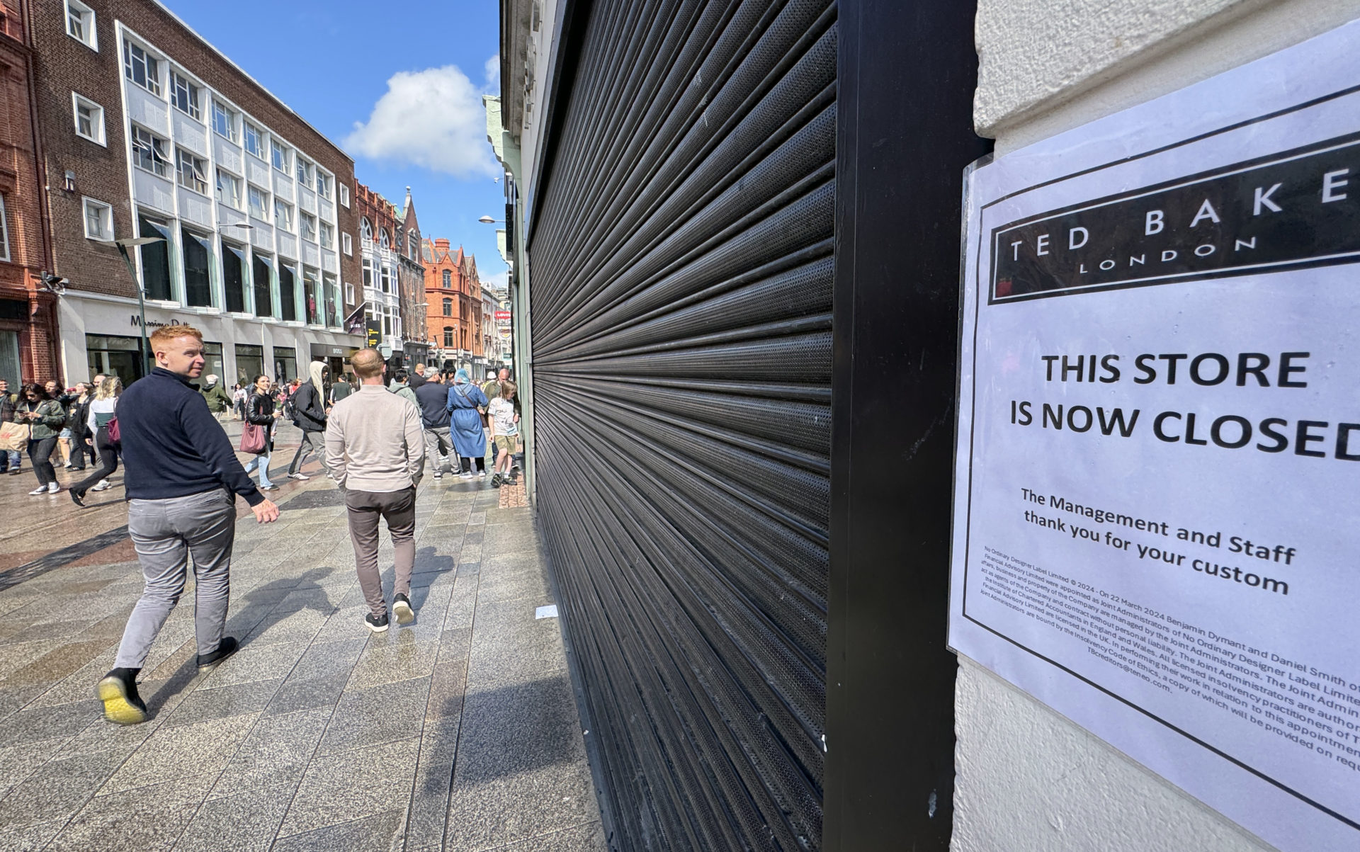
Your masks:
<svg viewBox="0 0 1360 852"><path fill-rule="evenodd" d="M152 0L48 0L31 22L68 383L143 371L113 238L162 238L132 251L146 325L200 327L228 385L362 345L344 322L359 220L337 145Z"/></svg>

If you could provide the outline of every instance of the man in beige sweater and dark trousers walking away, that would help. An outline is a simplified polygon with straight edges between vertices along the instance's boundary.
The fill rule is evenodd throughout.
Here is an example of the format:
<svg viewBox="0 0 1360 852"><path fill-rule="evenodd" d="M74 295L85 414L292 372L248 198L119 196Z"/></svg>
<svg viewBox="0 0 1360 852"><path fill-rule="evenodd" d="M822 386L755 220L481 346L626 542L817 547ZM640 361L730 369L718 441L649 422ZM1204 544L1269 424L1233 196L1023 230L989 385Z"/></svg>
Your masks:
<svg viewBox="0 0 1360 852"><path fill-rule="evenodd" d="M396 552L392 611L397 624L411 624L411 569L416 561L416 485L424 463L420 412L388 393L382 374L388 366L375 349L359 349L350 359L359 391L335 404L326 421L326 462L350 516L359 587L369 603L364 624L374 633L388 629L388 603L378 573L378 518L388 522Z"/></svg>

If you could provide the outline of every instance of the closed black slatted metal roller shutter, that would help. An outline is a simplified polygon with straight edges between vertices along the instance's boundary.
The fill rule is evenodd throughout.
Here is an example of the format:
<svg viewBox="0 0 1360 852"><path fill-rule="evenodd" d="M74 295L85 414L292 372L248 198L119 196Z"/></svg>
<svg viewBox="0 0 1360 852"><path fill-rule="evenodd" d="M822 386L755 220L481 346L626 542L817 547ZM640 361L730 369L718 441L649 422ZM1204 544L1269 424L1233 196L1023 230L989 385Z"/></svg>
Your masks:
<svg viewBox="0 0 1360 852"><path fill-rule="evenodd" d="M597 0L529 234L537 508L619 849L815 849L835 5Z"/></svg>

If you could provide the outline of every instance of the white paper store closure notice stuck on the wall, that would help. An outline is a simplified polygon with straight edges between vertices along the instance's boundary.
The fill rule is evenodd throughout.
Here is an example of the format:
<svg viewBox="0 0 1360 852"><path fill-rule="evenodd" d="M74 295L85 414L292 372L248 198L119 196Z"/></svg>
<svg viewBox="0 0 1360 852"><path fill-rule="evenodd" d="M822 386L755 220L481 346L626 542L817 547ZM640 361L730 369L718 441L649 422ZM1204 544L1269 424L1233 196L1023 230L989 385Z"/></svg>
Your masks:
<svg viewBox="0 0 1360 852"><path fill-rule="evenodd" d="M1360 23L972 173L949 641L1360 849Z"/></svg>

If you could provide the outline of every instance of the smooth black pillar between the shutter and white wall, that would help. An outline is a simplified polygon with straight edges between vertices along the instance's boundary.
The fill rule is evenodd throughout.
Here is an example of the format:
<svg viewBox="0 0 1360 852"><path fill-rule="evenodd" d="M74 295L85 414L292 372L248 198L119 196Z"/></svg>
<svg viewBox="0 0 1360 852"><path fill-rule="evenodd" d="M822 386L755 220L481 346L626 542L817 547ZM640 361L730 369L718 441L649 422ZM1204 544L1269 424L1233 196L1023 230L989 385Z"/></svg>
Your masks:
<svg viewBox="0 0 1360 852"><path fill-rule="evenodd" d="M972 0L842 0L824 848L948 849Z"/></svg>

